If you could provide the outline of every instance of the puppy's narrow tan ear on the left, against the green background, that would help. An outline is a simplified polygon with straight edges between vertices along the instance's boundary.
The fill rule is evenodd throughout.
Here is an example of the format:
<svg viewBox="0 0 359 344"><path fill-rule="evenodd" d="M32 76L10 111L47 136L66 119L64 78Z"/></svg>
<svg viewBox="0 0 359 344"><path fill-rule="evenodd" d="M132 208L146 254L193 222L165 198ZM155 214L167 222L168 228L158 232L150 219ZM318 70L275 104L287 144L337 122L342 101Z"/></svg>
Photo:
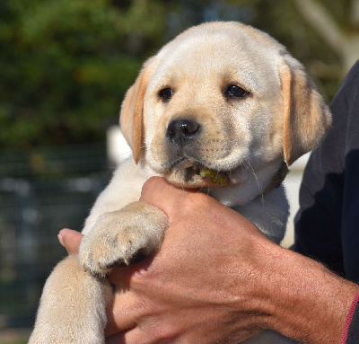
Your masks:
<svg viewBox="0 0 359 344"><path fill-rule="evenodd" d="M144 63L135 84L128 89L119 116L122 133L132 149L136 163L140 159L141 147L144 144L144 93L152 75L152 60L153 58L150 58Z"/></svg>

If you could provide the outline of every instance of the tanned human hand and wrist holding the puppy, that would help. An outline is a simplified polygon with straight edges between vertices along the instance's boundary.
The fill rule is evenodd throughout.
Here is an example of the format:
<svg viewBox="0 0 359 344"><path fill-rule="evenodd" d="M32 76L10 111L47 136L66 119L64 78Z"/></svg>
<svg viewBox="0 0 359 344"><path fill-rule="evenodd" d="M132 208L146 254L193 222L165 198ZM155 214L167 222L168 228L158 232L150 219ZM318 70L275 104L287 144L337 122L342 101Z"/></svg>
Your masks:
<svg viewBox="0 0 359 344"><path fill-rule="evenodd" d="M160 207L170 226L154 257L109 275L108 344L237 343L263 328L340 341L355 284L270 242L205 194L153 178L141 200ZM81 234L60 234L74 253Z"/></svg>

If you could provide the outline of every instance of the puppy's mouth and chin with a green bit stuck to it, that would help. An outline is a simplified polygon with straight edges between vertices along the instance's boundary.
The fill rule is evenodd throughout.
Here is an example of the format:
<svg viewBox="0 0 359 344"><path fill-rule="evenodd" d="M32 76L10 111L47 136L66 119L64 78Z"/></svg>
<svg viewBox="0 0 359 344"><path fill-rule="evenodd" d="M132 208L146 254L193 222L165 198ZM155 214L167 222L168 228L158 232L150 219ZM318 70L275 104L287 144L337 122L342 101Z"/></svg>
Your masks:
<svg viewBox="0 0 359 344"><path fill-rule="evenodd" d="M169 181L187 188L232 184L228 172L211 170L202 163L188 158L175 163L166 177Z"/></svg>

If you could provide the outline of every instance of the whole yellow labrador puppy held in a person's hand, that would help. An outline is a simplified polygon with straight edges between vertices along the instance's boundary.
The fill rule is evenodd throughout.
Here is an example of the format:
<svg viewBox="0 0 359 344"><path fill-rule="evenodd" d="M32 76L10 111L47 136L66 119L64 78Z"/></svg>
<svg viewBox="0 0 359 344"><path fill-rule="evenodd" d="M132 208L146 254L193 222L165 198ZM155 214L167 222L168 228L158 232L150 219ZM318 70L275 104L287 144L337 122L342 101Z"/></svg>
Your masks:
<svg viewBox="0 0 359 344"><path fill-rule="evenodd" d="M104 342L112 295L102 277L138 252L156 251L167 227L159 209L137 201L150 176L206 190L279 243L288 215L280 185L286 165L314 148L330 122L302 65L266 33L212 22L165 45L122 104L133 159L97 199L79 255L48 278L30 343ZM249 342L287 341L262 331Z"/></svg>

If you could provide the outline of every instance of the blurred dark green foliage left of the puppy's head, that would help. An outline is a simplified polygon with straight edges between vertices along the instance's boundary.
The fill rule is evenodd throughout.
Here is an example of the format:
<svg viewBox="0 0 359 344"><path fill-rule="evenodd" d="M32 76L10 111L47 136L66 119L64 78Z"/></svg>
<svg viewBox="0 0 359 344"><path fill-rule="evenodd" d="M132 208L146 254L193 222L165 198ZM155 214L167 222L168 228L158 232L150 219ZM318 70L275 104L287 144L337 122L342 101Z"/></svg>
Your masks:
<svg viewBox="0 0 359 344"><path fill-rule="evenodd" d="M0 4L0 146L101 140L144 57L160 46L160 1Z"/></svg>

